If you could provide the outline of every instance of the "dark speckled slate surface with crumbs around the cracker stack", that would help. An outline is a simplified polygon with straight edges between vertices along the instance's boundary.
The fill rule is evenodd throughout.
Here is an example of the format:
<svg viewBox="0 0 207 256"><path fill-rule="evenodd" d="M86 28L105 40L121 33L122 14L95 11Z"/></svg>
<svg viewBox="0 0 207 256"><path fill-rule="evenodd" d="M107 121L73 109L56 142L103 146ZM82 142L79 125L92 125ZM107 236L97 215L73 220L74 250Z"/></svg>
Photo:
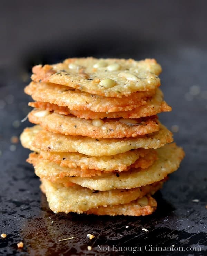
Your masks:
<svg viewBox="0 0 207 256"><path fill-rule="evenodd" d="M97 40L102 40L101 37ZM24 56L22 69L30 71L37 63L55 63L67 56L94 57L132 57L142 59L154 57L162 65L162 90L166 101L173 107L171 113L163 113L160 119L170 129L179 127L174 134L176 143L183 146L186 157L179 170L171 174L169 181L161 192L156 193L157 211L151 216L87 216L78 214L53 214L44 195L39 190L39 180L25 159L29 150L23 149L20 143L11 148L11 136L19 136L28 121L14 125L29 111L29 97L23 88L29 81L14 77L3 70L0 77L0 99L14 95L12 104L6 103L0 111L3 120L0 131L1 150L1 215L0 232L7 238L0 243L2 255L129 255L129 252L98 251L101 247L118 245L122 247L142 248L140 255L145 254L145 245L159 247L200 246L204 255L207 250L206 216L206 155L207 155L207 98L206 88L207 52L187 46L164 46L137 42L128 45L105 44L98 50L97 42L78 44L75 41L59 52L55 45L50 48L33 51ZM61 45L61 44L60 44ZM99 43L98 43L99 45ZM27 80L27 81L25 81ZM193 85L198 85L200 92L190 93ZM199 91L198 90L198 91ZM17 124L17 122L16 122ZM192 202L199 199L198 202ZM52 221L53 224L51 223ZM129 226L126 228L126 226ZM149 232L145 232L146 228ZM95 235L89 240L87 234ZM71 240L58 240L74 237ZM17 249L17 243L23 241L24 248ZM92 251L87 246L92 246ZM190 252L191 255L193 252ZM160 252L159 255L189 255L189 252Z"/></svg>

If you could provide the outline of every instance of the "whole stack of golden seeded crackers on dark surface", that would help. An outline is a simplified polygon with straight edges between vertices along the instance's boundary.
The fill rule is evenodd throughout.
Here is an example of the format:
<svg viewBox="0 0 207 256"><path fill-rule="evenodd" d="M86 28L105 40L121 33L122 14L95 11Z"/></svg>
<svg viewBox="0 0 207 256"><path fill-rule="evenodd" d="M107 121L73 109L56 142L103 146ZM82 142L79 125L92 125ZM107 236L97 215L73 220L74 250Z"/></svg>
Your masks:
<svg viewBox="0 0 207 256"><path fill-rule="evenodd" d="M171 111L154 59L71 58L33 67L22 145L57 212L148 215L184 152L157 117Z"/></svg>

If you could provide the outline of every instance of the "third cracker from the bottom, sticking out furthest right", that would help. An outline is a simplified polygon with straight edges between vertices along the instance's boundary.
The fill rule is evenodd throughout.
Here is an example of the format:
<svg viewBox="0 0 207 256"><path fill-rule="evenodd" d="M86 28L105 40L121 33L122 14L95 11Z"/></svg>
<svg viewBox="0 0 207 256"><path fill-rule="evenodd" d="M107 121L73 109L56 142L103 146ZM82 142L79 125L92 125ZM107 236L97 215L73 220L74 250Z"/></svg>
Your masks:
<svg viewBox="0 0 207 256"><path fill-rule="evenodd" d="M131 189L135 187L145 186L153 182L164 179L168 174L176 171L184 157L182 148L176 146L175 143L167 144L157 149L158 159L149 168L130 169L129 171L120 172L119 177L116 174L102 174L101 176L93 176L87 178L81 177L65 177L60 182L72 182L82 187L96 190L110 189Z"/></svg>

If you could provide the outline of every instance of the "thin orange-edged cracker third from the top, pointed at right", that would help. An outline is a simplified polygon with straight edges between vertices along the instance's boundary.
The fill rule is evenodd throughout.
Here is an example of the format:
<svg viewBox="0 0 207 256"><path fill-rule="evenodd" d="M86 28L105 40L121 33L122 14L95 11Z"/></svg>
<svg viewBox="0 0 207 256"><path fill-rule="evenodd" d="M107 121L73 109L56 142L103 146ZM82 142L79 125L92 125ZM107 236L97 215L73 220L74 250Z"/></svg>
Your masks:
<svg viewBox="0 0 207 256"><path fill-rule="evenodd" d="M99 118L140 118L146 116L153 116L160 112L171 111L172 108L163 101L162 92L157 89L156 94L145 101L146 104L140 104L141 106L136 107L128 111L118 111L110 113L93 112L90 110L70 110L68 107L62 107L47 102L30 102L29 106L34 108L40 108L43 110L54 111L63 115L75 115L79 118L85 119L99 119Z"/></svg>

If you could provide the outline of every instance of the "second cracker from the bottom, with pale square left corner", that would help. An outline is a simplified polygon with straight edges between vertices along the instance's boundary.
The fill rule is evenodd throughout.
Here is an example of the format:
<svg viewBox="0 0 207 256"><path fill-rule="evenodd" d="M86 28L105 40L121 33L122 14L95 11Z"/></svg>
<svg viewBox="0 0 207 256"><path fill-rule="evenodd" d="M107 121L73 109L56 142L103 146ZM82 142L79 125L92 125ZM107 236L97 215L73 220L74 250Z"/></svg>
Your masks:
<svg viewBox="0 0 207 256"><path fill-rule="evenodd" d="M135 189L115 189L109 191L95 191L75 185L64 187L61 184L42 180L42 191L46 194L50 209L55 212L83 213L91 208L103 205L117 205L129 203L146 194L154 194L162 187L163 182Z"/></svg>

